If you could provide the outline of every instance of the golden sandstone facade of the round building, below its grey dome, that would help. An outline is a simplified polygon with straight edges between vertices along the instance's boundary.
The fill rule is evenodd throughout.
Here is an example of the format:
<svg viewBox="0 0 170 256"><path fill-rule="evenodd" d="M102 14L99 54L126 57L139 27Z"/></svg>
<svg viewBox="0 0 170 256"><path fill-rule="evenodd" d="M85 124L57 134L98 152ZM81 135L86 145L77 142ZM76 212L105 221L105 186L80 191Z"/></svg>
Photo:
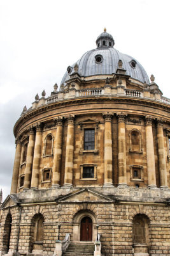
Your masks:
<svg viewBox="0 0 170 256"><path fill-rule="evenodd" d="M114 45L104 33L103 51ZM81 76L80 64L15 124L1 255L53 255L68 233L71 243L100 240L95 255L170 255L169 99L153 76L150 84L134 77L134 60L92 76Z"/></svg>

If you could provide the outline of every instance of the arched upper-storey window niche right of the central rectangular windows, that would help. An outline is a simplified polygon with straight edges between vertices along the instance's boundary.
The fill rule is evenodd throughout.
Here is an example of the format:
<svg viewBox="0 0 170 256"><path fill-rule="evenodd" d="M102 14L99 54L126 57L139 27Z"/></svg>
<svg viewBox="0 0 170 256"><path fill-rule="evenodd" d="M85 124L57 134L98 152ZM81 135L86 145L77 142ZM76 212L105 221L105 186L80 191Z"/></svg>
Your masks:
<svg viewBox="0 0 170 256"><path fill-rule="evenodd" d="M137 129L133 129L130 134L130 152L142 152L141 148L141 134Z"/></svg>

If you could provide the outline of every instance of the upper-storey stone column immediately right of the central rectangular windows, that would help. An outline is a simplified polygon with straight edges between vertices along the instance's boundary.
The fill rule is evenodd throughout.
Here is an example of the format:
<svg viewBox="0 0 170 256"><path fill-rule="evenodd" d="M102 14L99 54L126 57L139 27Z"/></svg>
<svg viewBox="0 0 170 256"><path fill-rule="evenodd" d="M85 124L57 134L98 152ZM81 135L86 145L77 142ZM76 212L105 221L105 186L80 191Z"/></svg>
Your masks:
<svg viewBox="0 0 170 256"><path fill-rule="evenodd" d="M103 113L104 118L104 186L113 186L111 118L113 113Z"/></svg>

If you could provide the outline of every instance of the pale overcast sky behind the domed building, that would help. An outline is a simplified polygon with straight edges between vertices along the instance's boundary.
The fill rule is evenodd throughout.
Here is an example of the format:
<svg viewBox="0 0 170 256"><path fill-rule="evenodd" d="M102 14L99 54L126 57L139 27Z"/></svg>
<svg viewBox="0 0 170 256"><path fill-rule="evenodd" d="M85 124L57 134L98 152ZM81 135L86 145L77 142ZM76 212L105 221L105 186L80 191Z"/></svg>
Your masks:
<svg viewBox="0 0 170 256"><path fill-rule="evenodd" d="M169 0L0 1L0 189L10 193L13 125L36 93L46 96L66 68L96 48L106 27L115 48L136 58L169 91Z"/></svg>

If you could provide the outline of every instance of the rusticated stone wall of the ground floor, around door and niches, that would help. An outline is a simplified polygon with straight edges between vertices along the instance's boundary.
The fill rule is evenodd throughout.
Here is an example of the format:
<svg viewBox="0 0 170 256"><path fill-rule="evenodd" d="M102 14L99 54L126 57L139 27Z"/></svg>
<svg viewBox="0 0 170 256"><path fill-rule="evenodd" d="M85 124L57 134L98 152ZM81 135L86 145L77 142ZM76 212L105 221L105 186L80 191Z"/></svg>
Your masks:
<svg viewBox="0 0 170 256"><path fill-rule="evenodd" d="M137 215L148 220L148 250L150 255L170 255L170 214L169 191L160 189L132 188L93 188L93 189L48 189L30 190L20 194L21 221L18 252L30 253L32 250L32 220L41 214L45 220L43 235L43 254L52 255L55 240L66 233L71 241L80 241L80 222L83 216L93 221L93 241L96 240L99 225L102 255L132 256L134 252L133 221ZM1 252L6 252L6 216L11 214L10 252L17 249L20 207L8 198L3 208L1 226Z"/></svg>

